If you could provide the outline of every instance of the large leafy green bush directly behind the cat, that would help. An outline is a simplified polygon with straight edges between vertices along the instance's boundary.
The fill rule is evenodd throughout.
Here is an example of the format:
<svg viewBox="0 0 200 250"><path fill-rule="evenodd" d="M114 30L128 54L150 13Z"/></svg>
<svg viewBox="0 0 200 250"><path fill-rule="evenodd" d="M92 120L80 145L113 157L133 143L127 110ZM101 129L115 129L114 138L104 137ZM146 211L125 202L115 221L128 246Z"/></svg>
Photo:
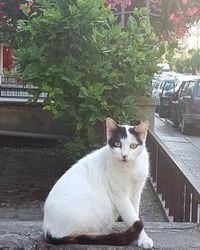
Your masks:
<svg viewBox="0 0 200 250"><path fill-rule="evenodd" d="M146 10L134 10L122 30L102 0L35 5L37 13L18 22L15 58L26 81L48 93L44 109L88 141L106 116L134 120L135 97L149 90L158 54Z"/></svg>

